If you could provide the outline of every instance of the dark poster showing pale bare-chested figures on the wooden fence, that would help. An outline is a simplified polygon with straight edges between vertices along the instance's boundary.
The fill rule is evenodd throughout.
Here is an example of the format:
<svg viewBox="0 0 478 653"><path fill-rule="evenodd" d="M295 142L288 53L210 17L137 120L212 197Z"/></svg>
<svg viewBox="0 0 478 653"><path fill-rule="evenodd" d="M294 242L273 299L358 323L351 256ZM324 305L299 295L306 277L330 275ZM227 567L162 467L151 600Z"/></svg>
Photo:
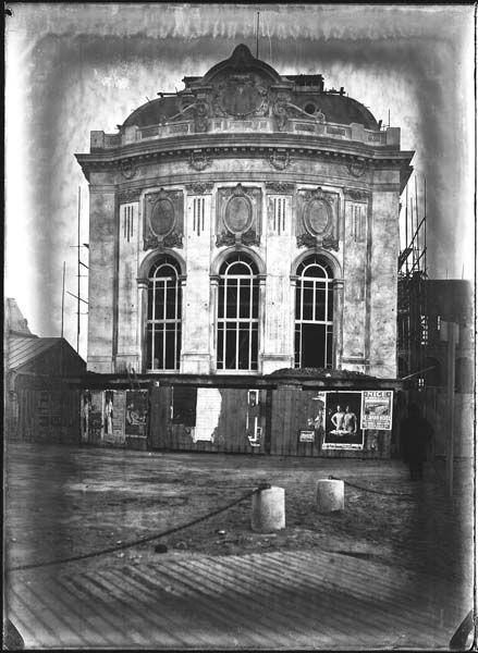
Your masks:
<svg viewBox="0 0 478 653"><path fill-rule="evenodd" d="M361 449L361 393L328 392L326 402L324 449Z"/></svg>

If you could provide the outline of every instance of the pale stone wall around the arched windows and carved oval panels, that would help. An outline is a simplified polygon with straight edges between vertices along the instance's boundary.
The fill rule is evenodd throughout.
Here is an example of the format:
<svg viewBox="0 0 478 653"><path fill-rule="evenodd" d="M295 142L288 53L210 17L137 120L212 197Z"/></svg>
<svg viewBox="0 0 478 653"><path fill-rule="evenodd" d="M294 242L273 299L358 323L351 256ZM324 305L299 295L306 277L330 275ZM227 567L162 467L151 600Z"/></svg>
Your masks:
<svg viewBox="0 0 478 653"><path fill-rule="evenodd" d="M268 188L268 184L282 180L295 184L295 193ZM207 190L192 190L196 182L206 183ZM187 161L145 164L132 182L118 173L91 175L88 369L121 372L133 367L142 371L146 293L138 286L138 278L145 276L144 261L152 256L143 247L144 195L162 187L184 194L183 248L173 248L186 266L181 372L216 371L216 291L211 273L213 261L226 249L216 246L217 190L240 182L246 188L261 189L261 239L259 246L250 247L265 266L259 373L294 365L295 296L291 274L293 262L308 251L296 246L296 197L299 189L321 186L339 197L339 250L327 251L339 280L335 366L395 377L399 172L375 173L373 177L365 172L357 180L344 163L305 156L291 159L284 172L274 170L266 158L244 157L212 158L201 172L192 171ZM137 200L120 201L125 188L136 189L137 195L143 189L143 194ZM351 188L359 195L351 194ZM274 200L282 201L285 210L280 230L277 215L274 224Z"/></svg>

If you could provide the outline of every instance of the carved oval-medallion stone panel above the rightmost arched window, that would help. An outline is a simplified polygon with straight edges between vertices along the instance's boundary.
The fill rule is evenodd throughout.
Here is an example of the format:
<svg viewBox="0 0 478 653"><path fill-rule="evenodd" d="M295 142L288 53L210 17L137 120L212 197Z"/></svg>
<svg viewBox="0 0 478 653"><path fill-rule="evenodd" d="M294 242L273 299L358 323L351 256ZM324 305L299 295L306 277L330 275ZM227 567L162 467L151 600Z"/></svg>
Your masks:
<svg viewBox="0 0 478 653"><path fill-rule="evenodd" d="M323 190L299 190L297 247L338 247L339 195ZM314 243L314 245L312 245Z"/></svg>

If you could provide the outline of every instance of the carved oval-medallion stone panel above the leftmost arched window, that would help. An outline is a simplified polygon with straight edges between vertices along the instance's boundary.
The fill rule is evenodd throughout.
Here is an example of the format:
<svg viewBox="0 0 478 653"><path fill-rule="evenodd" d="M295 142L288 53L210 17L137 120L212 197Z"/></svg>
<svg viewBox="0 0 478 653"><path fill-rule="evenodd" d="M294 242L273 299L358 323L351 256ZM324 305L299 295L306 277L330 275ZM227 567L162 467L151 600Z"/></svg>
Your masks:
<svg viewBox="0 0 478 653"><path fill-rule="evenodd" d="M183 213L181 190L161 188L146 195L144 248L182 247Z"/></svg>

